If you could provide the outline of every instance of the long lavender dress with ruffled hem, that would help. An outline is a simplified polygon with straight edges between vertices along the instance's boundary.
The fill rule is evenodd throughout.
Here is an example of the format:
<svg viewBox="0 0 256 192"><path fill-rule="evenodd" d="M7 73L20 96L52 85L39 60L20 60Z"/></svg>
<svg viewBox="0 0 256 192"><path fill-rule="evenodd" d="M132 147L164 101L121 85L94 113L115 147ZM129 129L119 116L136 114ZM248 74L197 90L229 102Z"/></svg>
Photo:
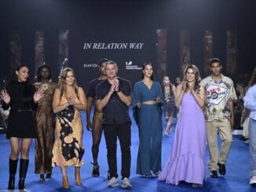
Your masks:
<svg viewBox="0 0 256 192"><path fill-rule="evenodd" d="M185 93L170 157L159 180L177 185L180 181L203 184L205 177L206 123L203 110L192 94Z"/></svg>

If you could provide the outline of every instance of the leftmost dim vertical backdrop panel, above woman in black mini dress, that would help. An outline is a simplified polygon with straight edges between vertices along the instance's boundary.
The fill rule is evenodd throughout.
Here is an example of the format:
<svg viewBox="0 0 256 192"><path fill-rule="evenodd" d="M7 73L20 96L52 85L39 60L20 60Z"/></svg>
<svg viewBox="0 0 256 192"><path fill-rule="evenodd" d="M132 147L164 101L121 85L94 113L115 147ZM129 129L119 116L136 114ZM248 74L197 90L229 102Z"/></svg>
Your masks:
<svg viewBox="0 0 256 192"><path fill-rule="evenodd" d="M15 71L16 65L21 61L21 41L20 33L11 32L10 33L10 75Z"/></svg>

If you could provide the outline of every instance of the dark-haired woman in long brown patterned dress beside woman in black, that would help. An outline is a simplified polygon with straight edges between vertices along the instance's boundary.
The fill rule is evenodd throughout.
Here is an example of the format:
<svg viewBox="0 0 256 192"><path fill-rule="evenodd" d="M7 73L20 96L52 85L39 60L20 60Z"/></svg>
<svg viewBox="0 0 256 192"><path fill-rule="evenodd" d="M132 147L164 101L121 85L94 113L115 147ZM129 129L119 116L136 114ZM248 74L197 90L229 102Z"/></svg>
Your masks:
<svg viewBox="0 0 256 192"><path fill-rule="evenodd" d="M36 110L36 126L38 137L35 143L35 173L40 174L39 181L51 178L52 174L52 150L54 143L55 115L53 113L53 92L57 84L51 82L51 70L49 65L44 64L38 67L38 82L35 83L36 89L41 89L43 97L38 100Z"/></svg>

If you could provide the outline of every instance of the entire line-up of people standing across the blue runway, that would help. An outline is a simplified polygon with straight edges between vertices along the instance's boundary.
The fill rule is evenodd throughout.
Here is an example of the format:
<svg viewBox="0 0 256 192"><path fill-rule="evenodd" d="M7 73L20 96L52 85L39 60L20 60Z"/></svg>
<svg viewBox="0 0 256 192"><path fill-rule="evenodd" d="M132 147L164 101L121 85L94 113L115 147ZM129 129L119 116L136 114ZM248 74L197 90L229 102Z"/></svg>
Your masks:
<svg viewBox="0 0 256 192"><path fill-rule="evenodd" d="M189 64L184 68L184 79L177 86L163 78L163 85L153 79L152 63L144 63L141 81L133 89L130 82L118 76L118 65L112 60L102 59L100 77L90 82L85 94L75 80L75 72L66 67L60 74L58 84L51 82L48 65L38 68L38 82L28 81L29 69L20 64L13 78L1 91L2 107L10 107L6 137L10 141L9 185L15 188L15 175L20 153L19 189L24 190L27 174L28 153L31 139L36 138L35 173L40 181L51 178L52 167L59 166L63 176L63 187L68 188L67 167L75 167L75 183L82 185L80 167L82 156L82 120L80 110L86 110L86 128L92 132L93 172L100 176L97 161L101 135L107 146L108 187L119 185L117 171L117 139L122 153L122 187L131 188L131 119L129 107L139 132L136 173L149 178L159 176L166 183L192 183L192 187L203 185L206 177L206 144L210 152L210 177L217 178L218 172L225 175L225 163L232 143L234 124L233 102L236 92L230 78L221 74L221 61L210 60L211 75L201 81L199 69ZM251 184L256 184L256 139L255 129L255 74L244 97L244 106L251 110L250 153ZM86 97L87 95L87 97ZM93 122L91 108L94 105ZM167 121L165 134L171 130L171 122L177 114L177 125L170 157L161 165L163 124L162 114ZM20 124L20 121L23 121ZM221 136L218 153L217 136ZM21 140L21 142L20 142ZM217 172L218 171L218 172Z"/></svg>

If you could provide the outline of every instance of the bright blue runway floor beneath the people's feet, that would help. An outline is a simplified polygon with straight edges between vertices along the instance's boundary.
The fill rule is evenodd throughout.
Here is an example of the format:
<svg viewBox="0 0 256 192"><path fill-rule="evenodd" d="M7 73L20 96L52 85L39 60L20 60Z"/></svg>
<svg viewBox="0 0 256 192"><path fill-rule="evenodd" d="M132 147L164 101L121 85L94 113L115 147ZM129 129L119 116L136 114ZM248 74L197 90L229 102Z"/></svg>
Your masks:
<svg viewBox="0 0 256 192"><path fill-rule="evenodd" d="M85 114L82 114L83 119L85 119ZM163 127L166 126L166 122L163 120ZM175 131L175 129L174 129ZM174 131L169 136L163 136L163 147L162 147L162 166L164 165L166 159L170 154L170 147L174 137ZM239 139L240 136L234 136L232 149L229 154L229 161L226 164L227 173L225 176L219 176L218 179L211 179L209 176L209 171L207 170L207 178L203 187L192 188L189 184L181 184L179 186L174 186L159 182L157 177L152 177L146 179L144 177L138 176L135 174L136 170L136 158L137 158L137 149L138 149L138 132L137 126L134 121L132 124L132 162L131 162L131 176L130 181L133 185L133 188L129 191L138 192L138 191L256 191L256 188L250 187L249 185L249 152L248 144L243 143ZM53 168L53 178L47 179L44 183L39 183L39 176L34 173L34 162L35 162L35 140L33 140L30 150L30 162L27 172L27 178L25 186L27 191L36 191L36 192L45 192L45 191L128 191L121 188L121 180L119 177L119 187L108 188L107 183L107 171L108 171L108 162L106 158L106 147L104 136L101 139L101 147L99 153L99 165L101 176L98 178L91 177L91 172L93 166L90 164L92 161L91 154L91 143L92 137L91 132L88 132L84 126L84 136L83 143L86 147L86 153L83 157L85 164L81 168L82 173L82 186L78 187L75 185L74 178L74 168L68 168L68 179L70 183L69 189L62 188L62 176L60 173L60 168ZM9 179L9 140L5 139L5 134L0 135L0 191L6 190L7 182ZM209 160L209 154L207 150L207 161ZM120 175L120 148L118 147L118 170ZM207 162L206 162L207 164ZM18 171L17 171L18 172ZM18 174L16 175L16 187L18 181ZM18 190L16 190L18 191Z"/></svg>

